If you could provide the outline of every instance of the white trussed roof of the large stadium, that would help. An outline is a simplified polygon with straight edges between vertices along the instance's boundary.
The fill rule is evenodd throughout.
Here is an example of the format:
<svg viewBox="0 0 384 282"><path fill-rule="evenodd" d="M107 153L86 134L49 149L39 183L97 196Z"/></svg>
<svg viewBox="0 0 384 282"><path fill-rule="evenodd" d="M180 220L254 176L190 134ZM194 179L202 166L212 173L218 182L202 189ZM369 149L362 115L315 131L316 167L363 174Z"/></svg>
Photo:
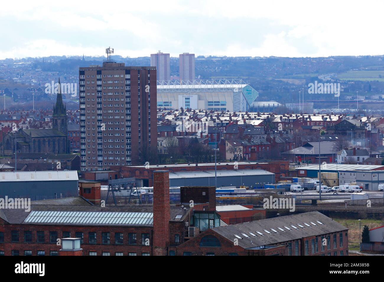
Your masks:
<svg viewBox="0 0 384 282"><path fill-rule="evenodd" d="M158 80L157 92L240 92L248 84L242 79L232 80Z"/></svg>

